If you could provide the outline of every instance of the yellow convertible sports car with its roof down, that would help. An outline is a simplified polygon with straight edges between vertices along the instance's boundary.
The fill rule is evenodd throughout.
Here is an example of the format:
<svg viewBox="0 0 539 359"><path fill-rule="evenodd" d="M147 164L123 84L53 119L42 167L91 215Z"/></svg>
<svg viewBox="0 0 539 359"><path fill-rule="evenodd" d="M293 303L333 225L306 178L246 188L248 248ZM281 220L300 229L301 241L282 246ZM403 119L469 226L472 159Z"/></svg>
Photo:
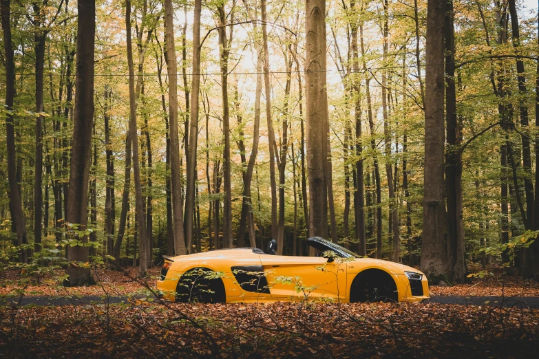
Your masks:
<svg viewBox="0 0 539 359"><path fill-rule="evenodd" d="M429 298L425 275L415 268L357 254L320 237L307 239L316 257L266 254L258 248L211 250L166 257L157 289L169 301L254 303L290 300L341 302ZM268 253L275 253L271 241Z"/></svg>

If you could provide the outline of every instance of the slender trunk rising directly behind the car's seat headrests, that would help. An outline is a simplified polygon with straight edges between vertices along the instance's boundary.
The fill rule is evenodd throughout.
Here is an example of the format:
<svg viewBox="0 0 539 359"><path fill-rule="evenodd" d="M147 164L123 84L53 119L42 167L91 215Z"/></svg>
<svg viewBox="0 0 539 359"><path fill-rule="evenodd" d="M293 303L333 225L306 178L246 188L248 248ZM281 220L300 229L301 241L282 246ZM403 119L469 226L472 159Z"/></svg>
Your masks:
<svg viewBox="0 0 539 359"><path fill-rule="evenodd" d="M277 239L277 182L275 179L275 133L271 119L271 82L269 76L268 29L266 16L266 0L260 1L262 11L262 41L264 42L264 88L266 90L266 120L268 124L268 144L270 157L271 182L271 237ZM279 248L277 248L279 249Z"/></svg>

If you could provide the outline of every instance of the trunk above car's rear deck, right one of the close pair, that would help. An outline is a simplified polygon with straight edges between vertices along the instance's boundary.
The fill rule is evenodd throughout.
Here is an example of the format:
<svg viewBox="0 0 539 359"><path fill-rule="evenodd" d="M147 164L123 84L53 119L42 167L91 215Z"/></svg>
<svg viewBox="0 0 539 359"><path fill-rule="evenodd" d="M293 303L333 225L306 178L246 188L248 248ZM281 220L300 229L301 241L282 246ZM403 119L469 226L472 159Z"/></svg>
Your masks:
<svg viewBox="0 0 539 359"><path fill-rule="evenodd" d="M195 1L195 13L200 12L201 1ZM185 34L184 34L185 39ZM185 47L184 47L185 49ZM183 67L185 69L185 67ZM185 71L185 70L184 70ZM184 80L187 89L187 80ZM200 88L200 21L193 26L193 76L191 80L191 123L189 124L189 152L187 153L187 191L185 193L185 245L191 250L193 237L193 208L195 206L196 156L198 146L198 98ZM187 90L186 90L187 91ZM188 94L186 93L186 98ZM186 103L186 106L189 105Z"/></svg>

